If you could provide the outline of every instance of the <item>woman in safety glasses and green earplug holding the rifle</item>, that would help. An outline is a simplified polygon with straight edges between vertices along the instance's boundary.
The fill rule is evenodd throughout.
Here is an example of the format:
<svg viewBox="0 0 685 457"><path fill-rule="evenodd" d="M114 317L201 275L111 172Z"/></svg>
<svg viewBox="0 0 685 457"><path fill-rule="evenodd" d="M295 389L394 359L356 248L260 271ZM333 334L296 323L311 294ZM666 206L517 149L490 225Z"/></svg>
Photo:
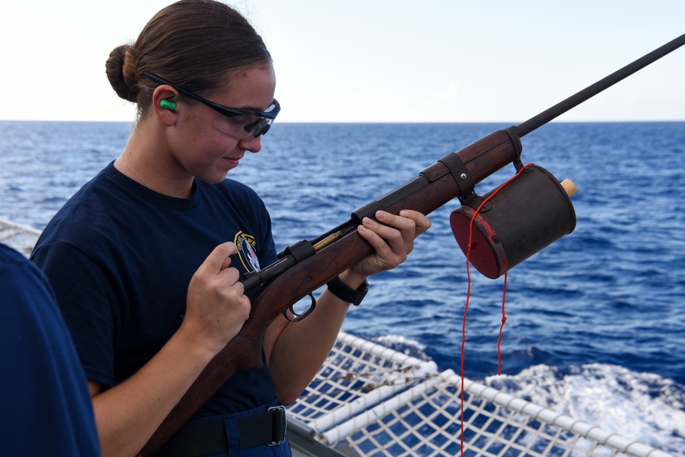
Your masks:
<svg viewBox="0 0 685 457"><path fill-rule="evenodd" d="M45 228L32 258L73 334L103 454L130 456L248 318L243 275L276 260L263 202L224 178L261 149L280 106L261 37L212 0L164 8L134 45L112 51L106 69L117 94L137 104L138 122L121 156ZM339 275L337 295L403 262L430 225L411 211L376 219L383 224L359 227L375 254ZM276 319L264 367L230 378L169 447L289 455L287 441L268 445L279 437L265 443L250 430L302 393L335 342L349 304L331 291L318 303L300 323Z"/></svg>

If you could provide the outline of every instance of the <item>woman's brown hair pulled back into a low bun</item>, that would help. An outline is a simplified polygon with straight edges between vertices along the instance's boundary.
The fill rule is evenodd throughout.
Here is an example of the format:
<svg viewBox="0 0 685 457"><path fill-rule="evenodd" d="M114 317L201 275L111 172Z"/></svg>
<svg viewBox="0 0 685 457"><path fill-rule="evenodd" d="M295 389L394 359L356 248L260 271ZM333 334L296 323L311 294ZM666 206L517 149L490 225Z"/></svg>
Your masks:
<svg viewBox="0 0 685 457"><path fill-rule="evenodd" d="M191 92L224 88L240 69L271 64L264 42L236 10L214 0L181 0L160 10L132 45L110 53L105 67L117 95L138 105L152 103L154 73Z"/></svg>

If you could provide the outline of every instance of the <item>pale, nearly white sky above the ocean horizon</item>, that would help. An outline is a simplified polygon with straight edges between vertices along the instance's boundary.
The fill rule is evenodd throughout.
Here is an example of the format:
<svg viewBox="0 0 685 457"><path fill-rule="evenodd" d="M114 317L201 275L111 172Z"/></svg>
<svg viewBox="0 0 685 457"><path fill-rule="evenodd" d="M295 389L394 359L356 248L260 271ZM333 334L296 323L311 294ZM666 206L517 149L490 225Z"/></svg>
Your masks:
<svg viewBox="0 0 685 457"><path fill-rule="evenodd" d="M132 121L104 62L169 1L3 1L0 119ZM682 0L241 0L291 122L525 121L685 34ZM685 47L560 121L685 121Z"/></svg>

